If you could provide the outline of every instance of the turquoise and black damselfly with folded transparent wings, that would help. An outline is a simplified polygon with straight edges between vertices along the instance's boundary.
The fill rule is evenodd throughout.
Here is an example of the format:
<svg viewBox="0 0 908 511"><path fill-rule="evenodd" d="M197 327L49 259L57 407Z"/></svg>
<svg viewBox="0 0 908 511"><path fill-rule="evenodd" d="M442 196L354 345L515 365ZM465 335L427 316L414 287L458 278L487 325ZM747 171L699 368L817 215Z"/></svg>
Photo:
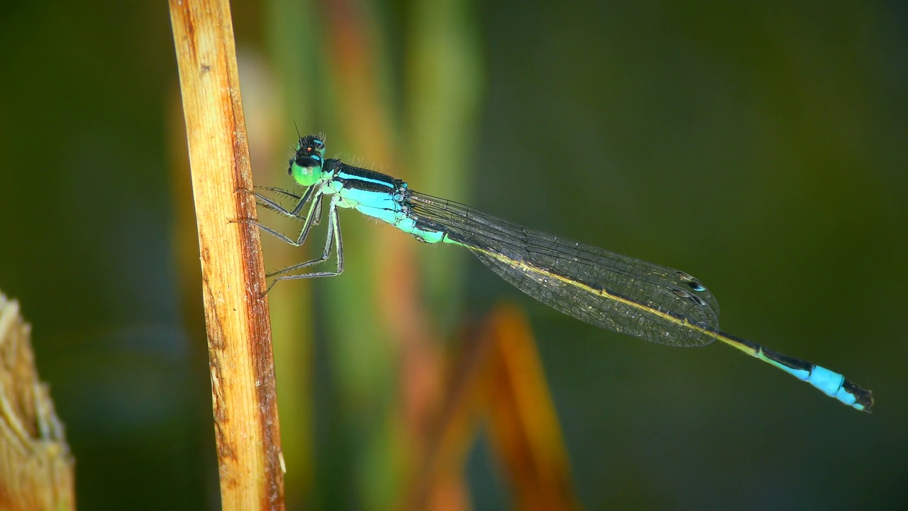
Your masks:
<svg viewBox="0 0 908 511"><path fill-rule="evenodd" d="M260 204L302 220L296 239L259 224L265 232L297 246L306 241L312 225L321 221L323 199L330 197L328 235L321 257L270 274L275 277L271 286L279 280L341 275L343 244L338 209L352 208L421 242L463 246L519 290L591 325L668 346L706 346L719 340L808 382L845 405L867 412L873 406L869 390L834 371L720 330L716 298L693 276L420 194L390 175L325 159L324 152L320 135L300 139L288 173L307 188L303 195L264 188L295 200L291 209L256 194ZM306 205L309 207L301 215ZM307 272L307 268L327 261L332 247L337 268Z"/></svg>

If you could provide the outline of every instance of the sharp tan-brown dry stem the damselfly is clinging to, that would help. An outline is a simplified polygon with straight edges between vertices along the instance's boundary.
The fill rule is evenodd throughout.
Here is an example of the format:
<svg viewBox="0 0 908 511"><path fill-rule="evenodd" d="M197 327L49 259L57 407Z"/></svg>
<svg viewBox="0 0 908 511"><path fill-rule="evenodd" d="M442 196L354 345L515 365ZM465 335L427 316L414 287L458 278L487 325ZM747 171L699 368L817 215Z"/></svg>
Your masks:
<svg viewBox="0 0 908 511"><path fill-rule="evenodd" d="M223 509L283 509L271 324L227 0L170 0L199 228Z"/></svg>

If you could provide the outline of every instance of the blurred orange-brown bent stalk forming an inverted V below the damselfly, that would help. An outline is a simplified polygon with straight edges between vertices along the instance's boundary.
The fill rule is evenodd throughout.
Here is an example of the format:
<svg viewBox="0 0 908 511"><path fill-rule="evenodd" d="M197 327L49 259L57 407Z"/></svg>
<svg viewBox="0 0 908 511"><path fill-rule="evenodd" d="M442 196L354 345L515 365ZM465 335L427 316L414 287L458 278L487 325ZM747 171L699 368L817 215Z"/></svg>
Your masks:
<svg viewBox="0 0 908 511"><path fill-rule="evenodd" d="M452 509L451 478L462 475L470 447L486 425L515 508L579 508L568 454L548 392L536 341L515 306L498 306L464 336L429 430L429 448L406 509Z"/></svg>

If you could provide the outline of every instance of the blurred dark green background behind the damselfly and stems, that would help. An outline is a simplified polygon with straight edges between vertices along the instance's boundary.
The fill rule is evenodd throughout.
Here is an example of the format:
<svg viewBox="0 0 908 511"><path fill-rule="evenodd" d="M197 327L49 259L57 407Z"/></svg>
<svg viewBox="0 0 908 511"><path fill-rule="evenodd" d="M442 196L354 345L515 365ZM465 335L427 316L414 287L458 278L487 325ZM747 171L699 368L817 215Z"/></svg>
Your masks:
<svg viewBox="0 0 908 511"><path fill-rule="evenodd" d="M294 122L325 130L420 191L682 268L725 330L877 399L867 416L724 346L587 326L342 212L347 273L270 296L290 508L382 509L402 485L410 344L380 307L399 255L442 346L502 300L528 312L588 509L908 506L903 3L232 8L257 183L288 185ZM77 502L216 508L166 4L4 4L0 41L0 290L34 325ZM467 479L474 508L508 506L481 438Z"/></svg>

